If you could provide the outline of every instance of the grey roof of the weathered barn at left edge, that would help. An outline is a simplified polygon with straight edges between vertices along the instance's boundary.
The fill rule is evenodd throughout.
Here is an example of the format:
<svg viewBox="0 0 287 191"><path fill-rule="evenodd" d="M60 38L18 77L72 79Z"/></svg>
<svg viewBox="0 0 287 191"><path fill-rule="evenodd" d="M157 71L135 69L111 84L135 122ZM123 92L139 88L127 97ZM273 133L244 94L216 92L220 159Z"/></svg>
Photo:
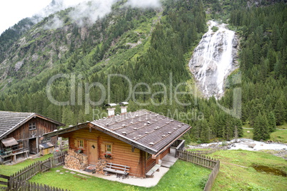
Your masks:
<svg viewBox="0 0 287 191"><path fill-rule="evenodd" d="M22 112L11 112L11 111L0 111L0 139L11 133L16 128L26 123L28 120L34 117L43 118L49 120L52 123L56 123L59 126L64 124L57 122L56 120L51 120L36 113L22 113Z"/></svg>

